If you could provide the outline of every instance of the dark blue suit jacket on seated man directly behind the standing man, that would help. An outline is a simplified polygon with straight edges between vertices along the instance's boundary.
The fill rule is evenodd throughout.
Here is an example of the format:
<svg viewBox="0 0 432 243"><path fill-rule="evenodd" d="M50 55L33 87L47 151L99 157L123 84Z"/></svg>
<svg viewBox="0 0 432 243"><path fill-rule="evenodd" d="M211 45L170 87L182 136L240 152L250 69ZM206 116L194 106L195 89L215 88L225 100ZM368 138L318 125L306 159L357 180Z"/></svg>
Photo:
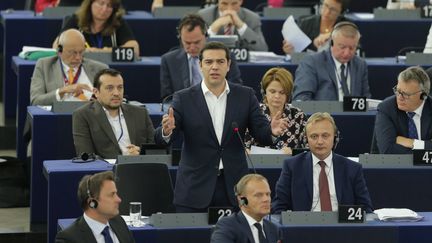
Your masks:
<svg viewBox="0 0 432 243"><path fill-rule="evenodd" d="M243 83L240 78L240 69L232 55L227 80L232 83ZM162 99L178 90L191 86L189 60L183 48L175 49L162 56L160 82Z"/></svg>

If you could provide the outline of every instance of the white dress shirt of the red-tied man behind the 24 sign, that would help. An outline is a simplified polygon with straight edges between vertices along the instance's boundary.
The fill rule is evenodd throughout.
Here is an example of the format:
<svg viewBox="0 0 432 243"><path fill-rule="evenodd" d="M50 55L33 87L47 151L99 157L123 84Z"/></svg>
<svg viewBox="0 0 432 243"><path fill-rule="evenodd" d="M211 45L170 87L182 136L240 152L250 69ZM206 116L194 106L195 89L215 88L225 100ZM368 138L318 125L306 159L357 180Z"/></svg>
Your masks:
<svg viewBox="0 0 432 243"><path fill-rule="evenodd" d="M312 154L312 169L313 169L313 199L312 199L312 209L311 211L321 211L321 201L319 193L319 174L321 172L321 166L318 164L320 159L318 159L314 154ZM338 201L336 196L336 188L334 181L333 172L333 152L324 159L326 163L325 172L327 175L327 181L330 190L330 201L332 205L332 211L338 210Z"/></svg>

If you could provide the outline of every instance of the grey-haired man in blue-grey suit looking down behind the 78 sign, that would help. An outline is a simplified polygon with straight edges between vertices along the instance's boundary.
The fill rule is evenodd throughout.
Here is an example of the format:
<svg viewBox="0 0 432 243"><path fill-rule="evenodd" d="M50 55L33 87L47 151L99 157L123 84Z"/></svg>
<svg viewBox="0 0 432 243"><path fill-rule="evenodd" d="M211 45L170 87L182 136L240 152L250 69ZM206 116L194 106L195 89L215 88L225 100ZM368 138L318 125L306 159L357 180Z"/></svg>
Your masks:
<svg viewBox="0 0 432 243"><path fill-rule="evenodd" d="M346 21L336 24L330 48L305 57L299 64L293 100L370 98L367 64L356 56L359 39L360 32L355 24Z"/></svg>

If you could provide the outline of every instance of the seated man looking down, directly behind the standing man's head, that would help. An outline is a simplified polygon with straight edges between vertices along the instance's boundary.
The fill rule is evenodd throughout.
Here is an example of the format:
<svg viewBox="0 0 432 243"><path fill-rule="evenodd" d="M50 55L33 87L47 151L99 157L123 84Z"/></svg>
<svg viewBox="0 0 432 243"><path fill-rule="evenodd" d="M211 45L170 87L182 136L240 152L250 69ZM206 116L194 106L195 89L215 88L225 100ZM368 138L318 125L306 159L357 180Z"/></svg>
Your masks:
<svg viewBox="0 0 432 243"><path fill-rule="evenodd" d="M196 14L186 15L177 27L181 48L165 53L161 59L161 98L201 82L198 55L206 44L207 27ZM231 59L228 82L242 83L240 69Z"/></svg>

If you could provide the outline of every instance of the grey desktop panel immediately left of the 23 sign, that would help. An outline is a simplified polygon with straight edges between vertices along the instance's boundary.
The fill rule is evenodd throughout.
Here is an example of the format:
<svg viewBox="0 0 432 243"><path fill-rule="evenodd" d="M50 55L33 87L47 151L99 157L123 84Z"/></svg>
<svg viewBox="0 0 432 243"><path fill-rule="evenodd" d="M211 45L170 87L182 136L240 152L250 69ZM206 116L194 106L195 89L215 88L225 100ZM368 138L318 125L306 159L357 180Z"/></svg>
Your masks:
<svg viewBox="0 0 432 243"><path fill-rule="evenodd" d="M157 213L152 214L149 224L160 228L208 226L207 213Z"/></svg>

